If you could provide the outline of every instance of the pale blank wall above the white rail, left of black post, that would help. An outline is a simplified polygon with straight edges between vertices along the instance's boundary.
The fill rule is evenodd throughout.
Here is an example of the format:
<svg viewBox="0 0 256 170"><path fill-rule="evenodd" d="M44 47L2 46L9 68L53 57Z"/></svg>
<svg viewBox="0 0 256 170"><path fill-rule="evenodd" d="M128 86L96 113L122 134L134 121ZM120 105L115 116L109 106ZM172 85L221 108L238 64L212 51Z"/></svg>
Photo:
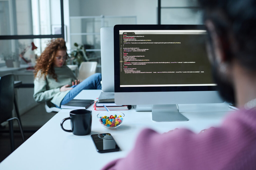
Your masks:
<svg viewBox="0 0 256 170"><path fill-rule="evenodd" d="M137 16L137 24L157 24L157 0L81 0L81 16Z"/></svg>

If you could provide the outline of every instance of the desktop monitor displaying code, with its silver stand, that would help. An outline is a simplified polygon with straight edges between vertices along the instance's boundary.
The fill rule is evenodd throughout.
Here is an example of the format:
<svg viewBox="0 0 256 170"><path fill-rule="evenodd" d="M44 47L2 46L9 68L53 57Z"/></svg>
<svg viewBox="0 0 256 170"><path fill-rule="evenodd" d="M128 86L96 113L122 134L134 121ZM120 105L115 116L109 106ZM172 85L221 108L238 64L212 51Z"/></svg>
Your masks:
<svg viewBox="0 0 256 170"><path fill-rule="evenodd" d="M204 25L115 25L116 104L153 104L153 121L186 121L177 104L221 103Z"/></svg>

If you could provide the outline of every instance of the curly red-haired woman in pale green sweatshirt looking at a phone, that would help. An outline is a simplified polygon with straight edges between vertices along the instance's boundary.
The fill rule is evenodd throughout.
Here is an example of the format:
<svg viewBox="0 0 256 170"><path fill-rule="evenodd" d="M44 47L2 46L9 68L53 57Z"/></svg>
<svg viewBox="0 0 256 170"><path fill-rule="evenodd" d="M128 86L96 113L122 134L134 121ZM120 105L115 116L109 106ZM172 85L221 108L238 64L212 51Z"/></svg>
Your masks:
<svg viewBox="0 0 256 170"><path fill-rule="evenodd" d="M50 41L35 66L34 99L36 102L50 101L51 106L60 107L68 103L83 89L101 89L101 74L96 73L80 83L66 66L67 47L63 38ZM77 85L75 87L70 87Z"/></svg>

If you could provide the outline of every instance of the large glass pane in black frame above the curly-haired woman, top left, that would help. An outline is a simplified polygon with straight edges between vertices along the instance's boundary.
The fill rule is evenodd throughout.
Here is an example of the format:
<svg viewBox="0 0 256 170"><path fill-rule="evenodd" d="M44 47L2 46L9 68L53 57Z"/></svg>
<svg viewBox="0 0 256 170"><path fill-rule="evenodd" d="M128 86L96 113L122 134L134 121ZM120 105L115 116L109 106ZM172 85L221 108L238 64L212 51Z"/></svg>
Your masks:
<svg viewBox="0 0 256 170"><path fill-rule="evenodd" d="M0 1L0 35L61 34L60 0Z"/></svg>

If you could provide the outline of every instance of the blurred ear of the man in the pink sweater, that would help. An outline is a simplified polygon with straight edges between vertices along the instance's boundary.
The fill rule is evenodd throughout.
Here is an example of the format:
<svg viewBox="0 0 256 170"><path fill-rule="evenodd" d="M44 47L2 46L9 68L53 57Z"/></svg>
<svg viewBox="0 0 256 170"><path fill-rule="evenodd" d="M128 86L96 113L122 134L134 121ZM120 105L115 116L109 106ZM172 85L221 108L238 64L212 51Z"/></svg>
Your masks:
<svg viewBox="0 0 256 170"><path fill-rule="evenodd" d="M223 44L222 44L221 38L216 32L215 25L210 20L206 20L205 25L209 31L209 34L210 34L209 36L211 37L211 41L212 41L212 49L211 50L214 53L214 56L216 57L215 59L213 59L212 57L214 57L214 56L210 56L210 60L211 61L215 60L215 61L217 61L218 64L225 63L227 61L227 57L226 57L225 51L223 49Z"/></svg>

